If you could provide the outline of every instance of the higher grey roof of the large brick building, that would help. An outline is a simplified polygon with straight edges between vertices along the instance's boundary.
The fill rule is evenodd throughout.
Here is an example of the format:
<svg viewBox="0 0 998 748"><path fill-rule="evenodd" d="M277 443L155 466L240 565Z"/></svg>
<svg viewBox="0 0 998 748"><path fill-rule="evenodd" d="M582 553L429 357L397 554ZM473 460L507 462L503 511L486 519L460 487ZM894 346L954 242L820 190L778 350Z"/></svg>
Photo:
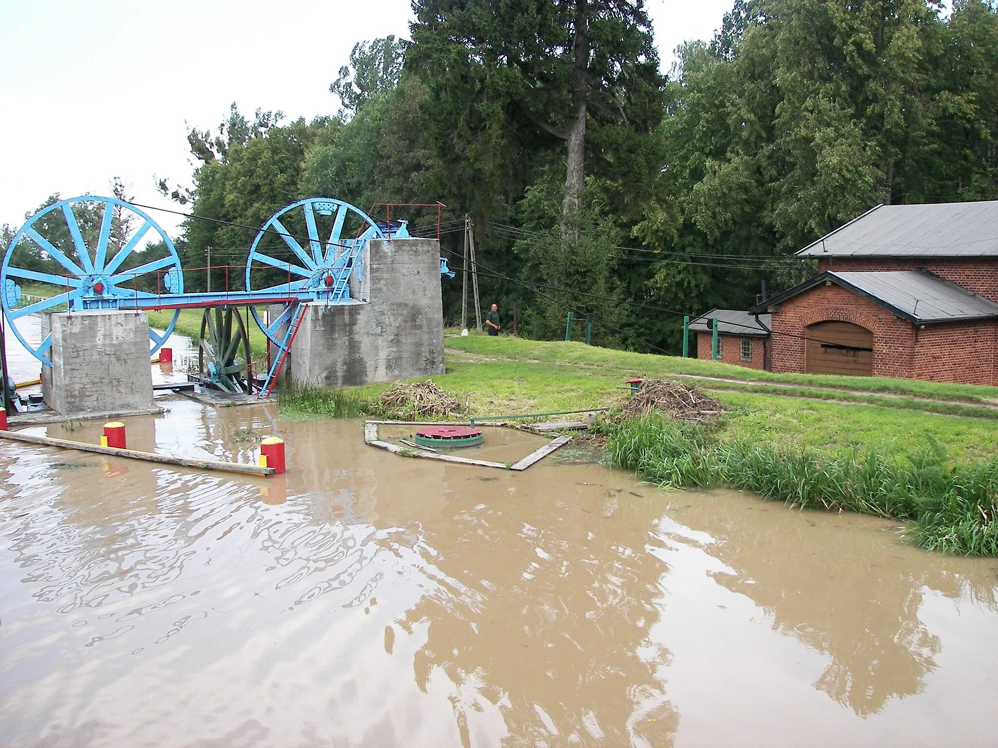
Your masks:
<svg viewBox="0 0 998 748"><path fill-rule="evenodd" d="M998 256L998 200L877 205L795 256Z"/></svg>

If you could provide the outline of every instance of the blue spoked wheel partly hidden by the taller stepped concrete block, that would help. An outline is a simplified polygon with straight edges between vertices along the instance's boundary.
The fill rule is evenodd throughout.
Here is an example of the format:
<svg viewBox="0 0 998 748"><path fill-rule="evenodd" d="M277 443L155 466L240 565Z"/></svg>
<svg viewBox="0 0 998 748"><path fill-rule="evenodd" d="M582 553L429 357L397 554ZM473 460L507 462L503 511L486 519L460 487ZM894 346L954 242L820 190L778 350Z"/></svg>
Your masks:
<svg viewBox="0 0 998 748"><path fill-rule="evenodd" d="M319 299L342 303L350 298L351 278L363 272L360 250L384 230L354 205L334 197L308 197L281 208L256 233L247 257L248 291L312 290ZM293 314L293 304L264 322L250 307L256 324L278 350L281 328Z"/></svg>

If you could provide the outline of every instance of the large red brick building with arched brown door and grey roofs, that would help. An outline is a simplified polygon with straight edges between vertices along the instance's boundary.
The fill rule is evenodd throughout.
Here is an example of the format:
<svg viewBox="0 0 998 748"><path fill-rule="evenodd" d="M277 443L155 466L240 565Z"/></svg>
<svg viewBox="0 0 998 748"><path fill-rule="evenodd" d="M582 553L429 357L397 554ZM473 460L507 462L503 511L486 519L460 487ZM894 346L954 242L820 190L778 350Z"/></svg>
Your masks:
<svg viewBox="0 0 998 748"><path fill-rule="evenodd" d="M998 201L878 205L796 256L821 272L749 310L773 371L998 384Z"/></svg>

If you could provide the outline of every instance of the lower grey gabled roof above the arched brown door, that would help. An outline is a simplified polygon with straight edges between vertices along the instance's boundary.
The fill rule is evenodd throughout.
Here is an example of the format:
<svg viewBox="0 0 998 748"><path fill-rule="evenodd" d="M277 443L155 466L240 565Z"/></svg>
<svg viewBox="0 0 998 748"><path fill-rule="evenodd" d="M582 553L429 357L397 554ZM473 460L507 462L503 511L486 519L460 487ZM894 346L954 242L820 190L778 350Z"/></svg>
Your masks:
<svg viewBox="0 0 998 748"><path fill-rule="evenodd" d="M998 318L998 304L927 270L826 270L749 311L762 311L825 283L842 286L915 324Z"/></svg>

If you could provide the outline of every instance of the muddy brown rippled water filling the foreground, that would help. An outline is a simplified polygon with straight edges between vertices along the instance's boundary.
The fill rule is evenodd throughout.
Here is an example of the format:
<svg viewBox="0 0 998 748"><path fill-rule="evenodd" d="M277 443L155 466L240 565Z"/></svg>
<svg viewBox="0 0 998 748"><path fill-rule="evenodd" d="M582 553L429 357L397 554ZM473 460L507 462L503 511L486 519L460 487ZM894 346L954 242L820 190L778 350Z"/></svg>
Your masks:
<svg viewBox="0 0 998 748"><path fill-rule="evenodd" d="M286 480L0 443L0 745L995 742L996 561L578 452L512 474L166 404L130 446L279 431Z"/></svg>

